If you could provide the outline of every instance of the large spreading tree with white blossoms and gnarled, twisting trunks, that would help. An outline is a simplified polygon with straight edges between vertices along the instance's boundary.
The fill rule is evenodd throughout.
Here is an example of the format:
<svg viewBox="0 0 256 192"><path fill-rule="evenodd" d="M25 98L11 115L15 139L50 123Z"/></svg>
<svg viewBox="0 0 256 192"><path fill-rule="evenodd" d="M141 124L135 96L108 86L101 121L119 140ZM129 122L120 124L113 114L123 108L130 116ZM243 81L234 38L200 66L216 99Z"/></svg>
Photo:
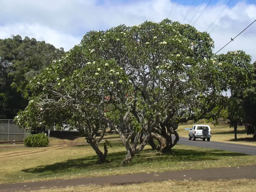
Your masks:
<svg viewBox="0 0 256 192"><path fill-rule="evenodd" d="M123 165L151 138L168 151L179 123L214 119L225 107L222 92L240 66L212 48L206 32L168 19L90 31L31 81L29 104L15 121L23 128L65 122L88 141L110 127L127 150Z"/></svg>

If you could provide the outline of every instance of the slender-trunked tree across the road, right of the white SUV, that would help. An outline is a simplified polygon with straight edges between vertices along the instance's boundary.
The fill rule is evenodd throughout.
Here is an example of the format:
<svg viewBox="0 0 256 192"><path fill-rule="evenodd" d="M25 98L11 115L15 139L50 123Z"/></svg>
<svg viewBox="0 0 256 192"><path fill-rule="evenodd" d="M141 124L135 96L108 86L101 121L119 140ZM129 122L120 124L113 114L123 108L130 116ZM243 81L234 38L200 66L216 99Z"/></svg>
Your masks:
<svg viewBox="0 0 256 192"><path fill-rule="evenodd" d="M223 114L225 114L225 119L229 119L230 127L234 127L234 139L237 140L237 126L243 125L243 121L246 118L244 91L246 88L251 87L253 77L251 56L245 54L244 51L238 50L228 51L227 54L220 54L217 57L219 62L224 65L227 87L231 92L226 106L226 113Z"/></svg>

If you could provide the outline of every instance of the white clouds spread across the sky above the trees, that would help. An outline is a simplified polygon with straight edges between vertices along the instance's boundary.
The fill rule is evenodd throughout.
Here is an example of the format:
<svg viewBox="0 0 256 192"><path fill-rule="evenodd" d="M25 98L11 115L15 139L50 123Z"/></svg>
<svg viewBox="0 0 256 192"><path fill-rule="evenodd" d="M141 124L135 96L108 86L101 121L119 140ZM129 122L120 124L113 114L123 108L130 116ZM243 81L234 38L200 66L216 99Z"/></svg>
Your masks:
<svg viewBox="0 0 256 192"><path fill-rule="evenodd" d="M178 1L177 1L178 2ZM208 6L195 27L205 31L219 15L226 4L223 1ZM37 40L45 40L56 47L68 50L78 44L88 30L105 30L119 24L134 25L145 20L159 22L166 18L173 6L169 0L137 0L137 1L104 1L96 0L0 0L0 38L19 34ZM210 32L220 19L228 12L233 4L230 3L215 23L209 28ZM190 24L193 24L206 3L201 6ZM182 22L190 5L176 3L169 19ZM188 23L194 16L198 6L193 6L186 17ZM10 11L11 10L11 11ZM253 20L256 19L256 6L240 1L221 23L210 34L215 41L215 52L234 38ZM222 49L219 53L228 50L244 50L256 60L256 23L238 36L234 42Z"/></svg>

